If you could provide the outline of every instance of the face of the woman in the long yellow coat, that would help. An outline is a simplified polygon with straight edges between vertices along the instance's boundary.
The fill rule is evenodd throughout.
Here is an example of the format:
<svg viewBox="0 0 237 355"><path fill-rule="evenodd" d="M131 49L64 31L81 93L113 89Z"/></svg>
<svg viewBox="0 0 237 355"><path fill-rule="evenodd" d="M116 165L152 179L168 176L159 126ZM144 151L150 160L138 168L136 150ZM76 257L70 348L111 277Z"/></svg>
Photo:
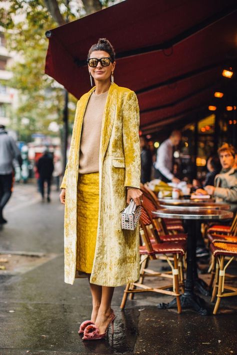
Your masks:
<svg viewBox="0 0 237 355"><path fill-rule="evenodd" d="M89 58L110 58L110 55L103 51L103 50L94 50L91 52ZM108 66L102 66L101 63L98 61L95 67L91 67L88 65L88 70L94 80L97 81L107 81L110 80L110 75L113 72L115 67L115 61L113 63L110 62Z"/></svg>

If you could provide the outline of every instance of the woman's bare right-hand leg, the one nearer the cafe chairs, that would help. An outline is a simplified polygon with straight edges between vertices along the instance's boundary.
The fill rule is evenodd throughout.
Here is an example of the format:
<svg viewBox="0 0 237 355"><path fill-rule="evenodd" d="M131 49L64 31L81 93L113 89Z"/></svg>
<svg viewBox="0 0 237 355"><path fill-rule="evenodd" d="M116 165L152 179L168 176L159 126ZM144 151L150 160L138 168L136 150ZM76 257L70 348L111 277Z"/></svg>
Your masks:
<svg viewBox="0 0 237 355"><path fill-rule="evenodd" d="M101 303L96 318L96 326L99 329L99 334L104 334L109 322L111 321L111 301L114 287L102 286Z"/></svg>

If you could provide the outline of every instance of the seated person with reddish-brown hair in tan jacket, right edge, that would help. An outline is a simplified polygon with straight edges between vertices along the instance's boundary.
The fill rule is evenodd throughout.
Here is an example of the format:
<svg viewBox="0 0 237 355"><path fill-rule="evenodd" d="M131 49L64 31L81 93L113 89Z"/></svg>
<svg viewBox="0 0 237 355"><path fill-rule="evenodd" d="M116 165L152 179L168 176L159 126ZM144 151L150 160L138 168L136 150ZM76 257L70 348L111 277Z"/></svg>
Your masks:
<svg viewBox="0 0 237 355"><path fill-rule="evenodd" d="M212 195L216 202L230 205L230 211L237 211L237 167L235 164L236 151L230 144L224 143L218 149L218 156L222 169L215 176L214 186L207 185L197 189L197 195Z"/></svg>

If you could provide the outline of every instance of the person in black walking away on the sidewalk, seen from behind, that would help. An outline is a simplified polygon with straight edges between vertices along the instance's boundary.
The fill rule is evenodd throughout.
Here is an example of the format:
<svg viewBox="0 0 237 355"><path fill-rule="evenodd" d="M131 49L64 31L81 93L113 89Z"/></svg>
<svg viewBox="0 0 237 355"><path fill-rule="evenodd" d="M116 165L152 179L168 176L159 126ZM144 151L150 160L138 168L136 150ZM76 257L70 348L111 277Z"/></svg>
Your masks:
<svg viewBox="0 0 237 355"><path fill-rule="evenodd" d="M42 196L42 202L44 201L44 182L47 183L47 202L50 202L53 161L47 149L44 150L43 155L38 159L36 167L39 174L39 189Z"/></svg>

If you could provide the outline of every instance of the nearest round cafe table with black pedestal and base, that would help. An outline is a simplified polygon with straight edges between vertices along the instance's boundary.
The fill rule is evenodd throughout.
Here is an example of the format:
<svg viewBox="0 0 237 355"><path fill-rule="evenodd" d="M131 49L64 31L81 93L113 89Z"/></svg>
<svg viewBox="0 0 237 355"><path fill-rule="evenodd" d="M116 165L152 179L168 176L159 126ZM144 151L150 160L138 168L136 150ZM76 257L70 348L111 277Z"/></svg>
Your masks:
<svg viewBox="0 0 237 355"><path fill-rule="evenodd" d="M180 297L181 307L193 309L202 316L207 315L205 301L194 293L194 286L197 270L196 270L196 223L200 220L218 221L233 217L233 213L225 210L217 210L212 208L198 208L190 210L188 207L176 209L165 208L152 212L160 218L183 219L186 221L187 228L187 269L186 280L184 283L184 293ZM199 280L199 279L198 279ZM201 280L200 280L201 281ZM159 304L159 309L167 309L176 307L176 298L168 304Z"/></svg>

